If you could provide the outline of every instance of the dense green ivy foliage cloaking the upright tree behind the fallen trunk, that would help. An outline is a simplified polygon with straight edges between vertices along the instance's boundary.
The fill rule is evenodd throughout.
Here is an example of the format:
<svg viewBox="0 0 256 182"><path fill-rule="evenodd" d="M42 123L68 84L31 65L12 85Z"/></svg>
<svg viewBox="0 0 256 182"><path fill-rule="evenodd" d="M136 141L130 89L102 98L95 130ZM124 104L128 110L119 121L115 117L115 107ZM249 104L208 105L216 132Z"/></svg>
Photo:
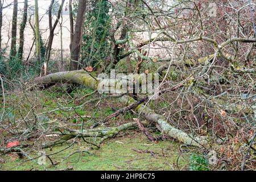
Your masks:
<svg viewBox="0 0 256 182"><path fill-rule="evenodd" d="M93 0L88 6L82 36L82 64L97 67L99 61L109 55L110 3L108 0Z"/></svg>

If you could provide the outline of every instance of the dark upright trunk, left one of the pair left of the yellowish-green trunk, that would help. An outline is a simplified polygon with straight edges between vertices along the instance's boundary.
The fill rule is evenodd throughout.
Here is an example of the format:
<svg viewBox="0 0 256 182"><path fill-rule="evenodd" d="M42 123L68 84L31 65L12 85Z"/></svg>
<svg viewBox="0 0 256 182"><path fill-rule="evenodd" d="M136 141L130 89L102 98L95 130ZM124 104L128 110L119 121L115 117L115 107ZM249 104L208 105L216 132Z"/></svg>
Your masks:
<svg viewBox="0 0 256 182"><path fill-rule="evenodd" d="M18 0L14 0L13 23L11 27L11 52L10 52L11 58L13 58L16 55L17 14L18 14Z"/></svg>

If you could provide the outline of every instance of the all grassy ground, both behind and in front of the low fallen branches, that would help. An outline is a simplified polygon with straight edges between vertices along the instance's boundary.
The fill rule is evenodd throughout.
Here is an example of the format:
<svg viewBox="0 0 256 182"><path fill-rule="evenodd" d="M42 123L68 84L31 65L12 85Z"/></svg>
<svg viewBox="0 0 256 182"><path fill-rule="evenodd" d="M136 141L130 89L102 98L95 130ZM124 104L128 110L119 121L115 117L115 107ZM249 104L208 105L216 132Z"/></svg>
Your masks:
<svg viewBox="0 0 256 182"><path fill-rule="evenodd" d="M33 126L31 123L17 122L20 118L33 118L34 113L42 113L51 111L61 106L76 107L86 101L93 100L104 96L92 94L80 100L82 96L91 93L89 89L77 89L71 94L65 93L65 88L55 86L49 90L40 92L27 92L19 94L7 94L6 109L8 115L5 119L6 123L12 123L13 126L22 127ZM18 103L18 104L17 104ZM160 103L159 105L164 105ZM57 110L52 113L40 115L37 121L37 130L47 131L48 128L56 125L63 125L73 129L81 128L82 119L80 116L87 116L85 128L89 128L96 121L102 121L106 116L112 114L112 108L119 109L123 105L118 102L117 98L105 98L86 104L84 107L71 109L69 111ZM29 113L29 114L28 114ZM79 115L78 115L79 114ZM117 126L123 123L133 121L137 118L131 112L124 115L119 115L113 118L107 126ZM141 118L143 119L143 118ZM159 135L156 130L150 131L153 135ZM187 170L189 169L189 160L191 153L183 150L180 152L179 146L181 143L176 143L171 139L165 139L158 143L150 142L146 136L136 130L128 130L112 139L105 140L101 148L96 150L83 142L82 139L76 139L72 146L68 144L73 142L73 139L68 143L60 146L54 146L44 150L47 155L50 155L52 160L47 158L46 164L38 164L38 149L37 144L50 142L56 138L40 137L30 140L22 140L19 137L10 136L6 131L0 134L0 147L5 147L10 140L18 139L21 144L34 144L34 148L26 150L26 154L30 158L19 159L15 155L0 155L0 170L55 170L72 168L75 170ZM92 141L96 141L91 139ZM56 164L56 165L52 165Z"/></svg>

